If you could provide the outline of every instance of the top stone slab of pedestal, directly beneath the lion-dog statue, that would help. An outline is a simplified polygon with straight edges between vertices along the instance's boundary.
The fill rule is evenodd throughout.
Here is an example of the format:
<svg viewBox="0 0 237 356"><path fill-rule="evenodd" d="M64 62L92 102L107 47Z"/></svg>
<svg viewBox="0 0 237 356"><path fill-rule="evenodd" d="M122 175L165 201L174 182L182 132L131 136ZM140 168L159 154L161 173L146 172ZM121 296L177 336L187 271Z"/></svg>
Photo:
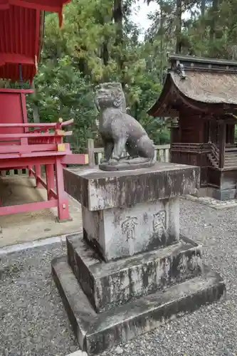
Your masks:
<svg viewBox="0 0 237 356"><path fill-rule="evenodd" d="M130 171L102 172L98 167L64 169L65 191L90 211L125 207L199 189L200 168L159 163Z"/></svg>

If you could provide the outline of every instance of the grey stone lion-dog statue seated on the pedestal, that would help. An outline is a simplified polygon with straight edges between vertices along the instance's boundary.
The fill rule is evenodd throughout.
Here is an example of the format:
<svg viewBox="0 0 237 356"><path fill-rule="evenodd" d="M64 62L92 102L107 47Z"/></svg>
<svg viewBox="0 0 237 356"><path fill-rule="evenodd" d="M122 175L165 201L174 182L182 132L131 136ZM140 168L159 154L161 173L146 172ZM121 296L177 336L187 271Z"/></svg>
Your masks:
<svg viewBox="0 0 237 356"><path fill-rule="evenodd" d="M103 170L137 169L154 164L154 145L142 125L126 113L120 83L95 87L95 104L100 112L99 132L105 148ZM121 159L126 150L132 159Z"/></svg>

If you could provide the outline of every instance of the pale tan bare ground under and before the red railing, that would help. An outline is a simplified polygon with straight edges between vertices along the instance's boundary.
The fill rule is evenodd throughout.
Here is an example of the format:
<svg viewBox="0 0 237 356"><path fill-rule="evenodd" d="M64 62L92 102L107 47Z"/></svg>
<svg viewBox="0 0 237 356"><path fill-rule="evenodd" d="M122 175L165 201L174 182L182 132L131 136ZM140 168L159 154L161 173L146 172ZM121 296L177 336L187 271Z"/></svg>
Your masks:
<svg viewBox="0 0 237 356"><path fill-rule="evenodd" d="M46 189L36 189L35 179L6 177L0 179L1 206L46 200ZM69 198L72 221L56 222L57 209L0 216L0 247L35 241L82 230L80 204Z"/></svg>

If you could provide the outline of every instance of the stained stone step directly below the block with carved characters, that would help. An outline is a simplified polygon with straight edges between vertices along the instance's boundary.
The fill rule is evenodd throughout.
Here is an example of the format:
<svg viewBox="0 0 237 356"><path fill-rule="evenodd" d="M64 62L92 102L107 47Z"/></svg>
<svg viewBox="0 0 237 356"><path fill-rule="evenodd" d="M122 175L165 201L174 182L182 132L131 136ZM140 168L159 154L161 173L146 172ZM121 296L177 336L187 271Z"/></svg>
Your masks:
<svg viewBox="0 0 237 356"><path fill-rule="evenodd" d="M135 298L199 276L201 247L193 241L105 263L83 240L67 238L68 263L90 303L100 313Z"/></svg>

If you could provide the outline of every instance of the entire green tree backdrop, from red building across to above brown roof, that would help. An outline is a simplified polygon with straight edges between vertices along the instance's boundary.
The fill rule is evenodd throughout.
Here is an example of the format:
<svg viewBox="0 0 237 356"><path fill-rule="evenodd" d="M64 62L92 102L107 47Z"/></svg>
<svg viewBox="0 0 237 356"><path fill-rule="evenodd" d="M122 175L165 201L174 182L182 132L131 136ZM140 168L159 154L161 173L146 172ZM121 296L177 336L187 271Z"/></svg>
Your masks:
<svg viewBox="0 0 237 356"><path fill-rule="evenodd" d="M56 14L46 14L36 95L28 103L31 119L73 117L71 145L84 152L95 135L94 86L120 81L128 112L154 143L169 142L167 120L146 113L162 90L167 53L237 59L237 1L154 1L157 11L149 14L151 26L142 40L130 16L136 0L73 0L65 6L61 29Z"/></svg>

